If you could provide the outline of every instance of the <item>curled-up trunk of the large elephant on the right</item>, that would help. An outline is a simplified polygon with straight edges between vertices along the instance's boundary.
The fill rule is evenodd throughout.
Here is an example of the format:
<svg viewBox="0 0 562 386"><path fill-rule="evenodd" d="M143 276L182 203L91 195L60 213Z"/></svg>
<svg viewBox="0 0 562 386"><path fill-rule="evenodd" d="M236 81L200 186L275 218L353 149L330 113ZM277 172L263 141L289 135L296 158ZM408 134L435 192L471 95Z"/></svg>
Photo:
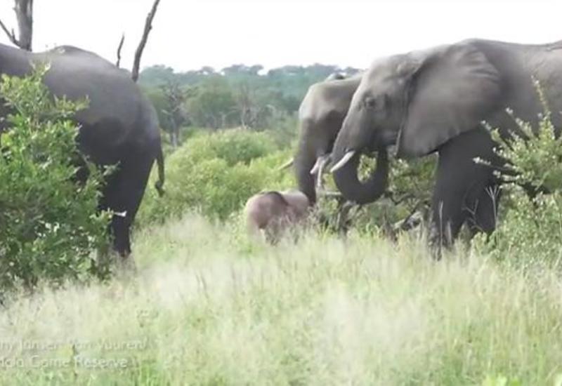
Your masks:
<svg viewBox="0 0 562 386"><path fill-rule="evenodd" d="M342 157L336 157L336 159L340 158ZM344 194L349 201L370 204L377 201L388 187L388 153L384 147L379 149L377 168L365 182L359 180L359 161L360 153L355 152L344 166L334 171L334 182L341 194Z"/></svg>

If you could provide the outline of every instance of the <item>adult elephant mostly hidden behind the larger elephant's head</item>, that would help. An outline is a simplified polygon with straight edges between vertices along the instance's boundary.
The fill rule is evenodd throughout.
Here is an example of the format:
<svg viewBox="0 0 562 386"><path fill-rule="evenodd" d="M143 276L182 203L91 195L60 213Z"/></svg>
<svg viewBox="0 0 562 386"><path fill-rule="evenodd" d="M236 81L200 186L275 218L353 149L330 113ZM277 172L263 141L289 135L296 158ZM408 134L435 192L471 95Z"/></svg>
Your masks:
<svg viewBox="0 0 562 386"><path fill-rule="evenodd" d="M322 173L323 165L329 161L334 141L360 81L361 74L351 77L332 74L325 81L308 88L301 102L299 146L294 157L294 171L299 190L306 194L311 205L317 199L315 176ZM379 165L366 182L370 197L378 198L386 189L386 152L381 152Z"/></svg>

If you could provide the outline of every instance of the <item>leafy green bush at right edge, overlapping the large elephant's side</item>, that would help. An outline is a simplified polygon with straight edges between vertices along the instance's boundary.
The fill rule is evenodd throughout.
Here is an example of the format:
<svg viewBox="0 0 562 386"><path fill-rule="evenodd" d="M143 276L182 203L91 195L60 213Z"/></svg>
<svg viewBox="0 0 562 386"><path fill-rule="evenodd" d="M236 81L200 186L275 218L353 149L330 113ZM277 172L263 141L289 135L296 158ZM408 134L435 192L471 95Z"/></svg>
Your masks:
<svg viewBox="0 0 562 386"><path fill-rule="evenodd" d="M557 264L562 257L562 138L537 89L544 105L537 130L518 119L521 131L512 138L491 129L499 142L497 154L509 160L507 168L496 172L507 184L496 232L476 244L495 258L523 265Z"/></svg>

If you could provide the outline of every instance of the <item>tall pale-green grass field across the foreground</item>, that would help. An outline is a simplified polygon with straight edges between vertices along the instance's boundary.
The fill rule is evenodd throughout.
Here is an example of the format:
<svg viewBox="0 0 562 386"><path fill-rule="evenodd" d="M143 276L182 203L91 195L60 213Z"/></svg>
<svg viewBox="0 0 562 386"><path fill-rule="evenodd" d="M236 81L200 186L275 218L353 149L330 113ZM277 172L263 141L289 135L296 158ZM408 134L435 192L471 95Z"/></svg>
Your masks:
<svg viewBox="0 0 562 386"><path fill-rule="evenodd" d="M423 245L256 246L187 215L136 234L134 279L11 302L0 384L556 384L558 272Z"/></svg>

